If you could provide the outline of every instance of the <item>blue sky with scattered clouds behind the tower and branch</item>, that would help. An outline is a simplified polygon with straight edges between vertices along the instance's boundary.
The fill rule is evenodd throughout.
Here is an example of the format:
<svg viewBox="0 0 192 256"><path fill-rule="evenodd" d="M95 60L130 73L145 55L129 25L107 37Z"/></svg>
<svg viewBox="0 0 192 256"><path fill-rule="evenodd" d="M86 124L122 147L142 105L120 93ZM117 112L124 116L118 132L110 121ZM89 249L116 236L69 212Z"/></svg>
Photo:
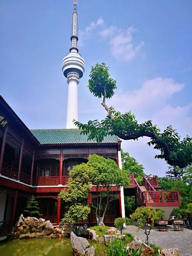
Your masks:
<svg viewBox="0 0 192 256"><path fill-rule="evenodd" d="M117 80L106 103L139 122L169 124L191 136L191 0L78 0L78 48L86 71L78 85L78 119L105 118L88 90L91 66L105 62ZM0 1L0 93L29 129L66 127L67 79L62 58L70 48L72 0ZM164 160L148 139L122 148L146 174L163 176Z"/></svg>

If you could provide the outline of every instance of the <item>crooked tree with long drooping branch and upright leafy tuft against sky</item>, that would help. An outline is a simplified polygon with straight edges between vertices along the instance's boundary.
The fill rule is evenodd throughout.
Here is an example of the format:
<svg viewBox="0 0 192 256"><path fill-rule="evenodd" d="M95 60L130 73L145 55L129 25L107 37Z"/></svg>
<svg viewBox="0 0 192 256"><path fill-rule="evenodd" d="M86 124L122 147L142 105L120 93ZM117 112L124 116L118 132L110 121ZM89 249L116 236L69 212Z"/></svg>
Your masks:
<svg viewBox="0 0 192 256"><path fill-rule="evenodd" d="M115 111L113 107L109 108L105 100L114 95L116 89L116 80L109 74L109 68L105 63L97 63L92 66L89 86L90 92L95 97L103 97L102 106L107 111L107 116L101 122L98 120L88 121L82 124L78 121L74 123L82 129L83 134L88 134L89 139L95 139L101 142L106 135L117 135L124 140L137 140L140 137L148 137L148 145L153 145L160 151L156 158L164 159L169 165L185 167L192 163L192 138L186 136L183 140L169 125L163 132L152 123L151 120L138 123L131 111L121 114Z"/></svg>

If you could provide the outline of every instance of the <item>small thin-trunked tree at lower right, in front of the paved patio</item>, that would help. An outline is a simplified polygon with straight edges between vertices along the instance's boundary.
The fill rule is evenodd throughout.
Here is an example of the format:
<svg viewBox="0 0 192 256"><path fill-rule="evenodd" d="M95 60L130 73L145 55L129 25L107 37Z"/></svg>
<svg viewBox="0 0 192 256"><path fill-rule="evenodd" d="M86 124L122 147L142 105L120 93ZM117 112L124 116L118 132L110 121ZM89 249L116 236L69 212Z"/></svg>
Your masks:
<svg viewBox="0 0 192 256"><path fill-rule="evenodd" d="M135 212L130 216L131 220L137 221L138 228L144 227L144 233L146 235L146 242L148 244L148 236L150 235L151 228L154 226L155 221L162 218L164 215L163 210L157 210L153 206L142 206L135 210ZM147 226L150 227L147 230Z"/></svg>

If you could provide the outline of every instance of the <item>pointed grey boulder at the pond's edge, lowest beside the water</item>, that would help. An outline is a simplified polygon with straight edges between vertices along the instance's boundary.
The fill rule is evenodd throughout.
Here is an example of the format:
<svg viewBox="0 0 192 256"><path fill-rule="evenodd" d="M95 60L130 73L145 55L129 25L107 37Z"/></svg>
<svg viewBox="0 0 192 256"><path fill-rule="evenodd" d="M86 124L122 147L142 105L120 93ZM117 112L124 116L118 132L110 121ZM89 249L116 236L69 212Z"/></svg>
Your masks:
<svg viewBox="0 0 192 256"><path fill-rule="evenodd" d="M94 256L95 249L90 247L87 239L77 237L76 234L71 232L71 244L75 256Z"/></svg>

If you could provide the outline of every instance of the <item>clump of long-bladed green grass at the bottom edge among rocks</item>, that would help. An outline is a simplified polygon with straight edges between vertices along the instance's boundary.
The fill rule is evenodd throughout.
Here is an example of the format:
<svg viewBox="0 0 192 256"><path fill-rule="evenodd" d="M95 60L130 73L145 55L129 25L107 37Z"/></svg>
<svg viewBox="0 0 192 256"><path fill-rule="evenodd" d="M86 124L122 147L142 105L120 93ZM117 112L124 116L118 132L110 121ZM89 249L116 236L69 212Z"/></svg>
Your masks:
<svg viewBox="0 0 192 256"><path fill-rule="evenodd" d="M125 242L114 239L106 249L107 256L141 256L141 248L139 251L127 248Z"/></svg>

